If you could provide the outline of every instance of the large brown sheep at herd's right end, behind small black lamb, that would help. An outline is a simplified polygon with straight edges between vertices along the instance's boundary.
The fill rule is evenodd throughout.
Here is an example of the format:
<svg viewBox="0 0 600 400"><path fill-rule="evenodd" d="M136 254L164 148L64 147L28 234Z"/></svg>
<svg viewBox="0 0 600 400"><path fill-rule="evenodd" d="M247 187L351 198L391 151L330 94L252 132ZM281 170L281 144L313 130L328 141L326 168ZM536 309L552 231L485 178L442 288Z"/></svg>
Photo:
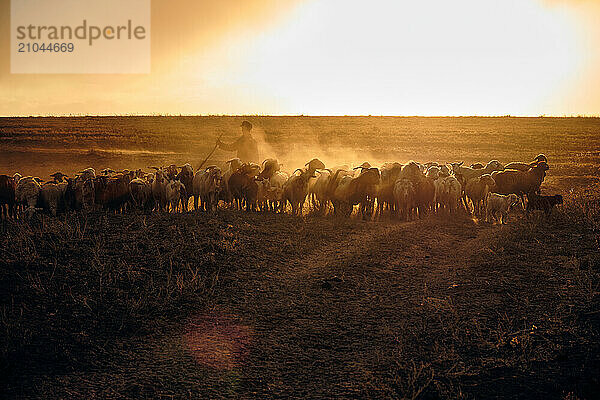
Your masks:
<svg viewBox="0 0 600 400"><path fill-rule="evenodd" d="M499 194L514 193L524 200L524 195L538 193L548 169L548 164L542 161L528 171L507 169L494 172L492 173L492 178L496 182L494 191Z"/></svg>

